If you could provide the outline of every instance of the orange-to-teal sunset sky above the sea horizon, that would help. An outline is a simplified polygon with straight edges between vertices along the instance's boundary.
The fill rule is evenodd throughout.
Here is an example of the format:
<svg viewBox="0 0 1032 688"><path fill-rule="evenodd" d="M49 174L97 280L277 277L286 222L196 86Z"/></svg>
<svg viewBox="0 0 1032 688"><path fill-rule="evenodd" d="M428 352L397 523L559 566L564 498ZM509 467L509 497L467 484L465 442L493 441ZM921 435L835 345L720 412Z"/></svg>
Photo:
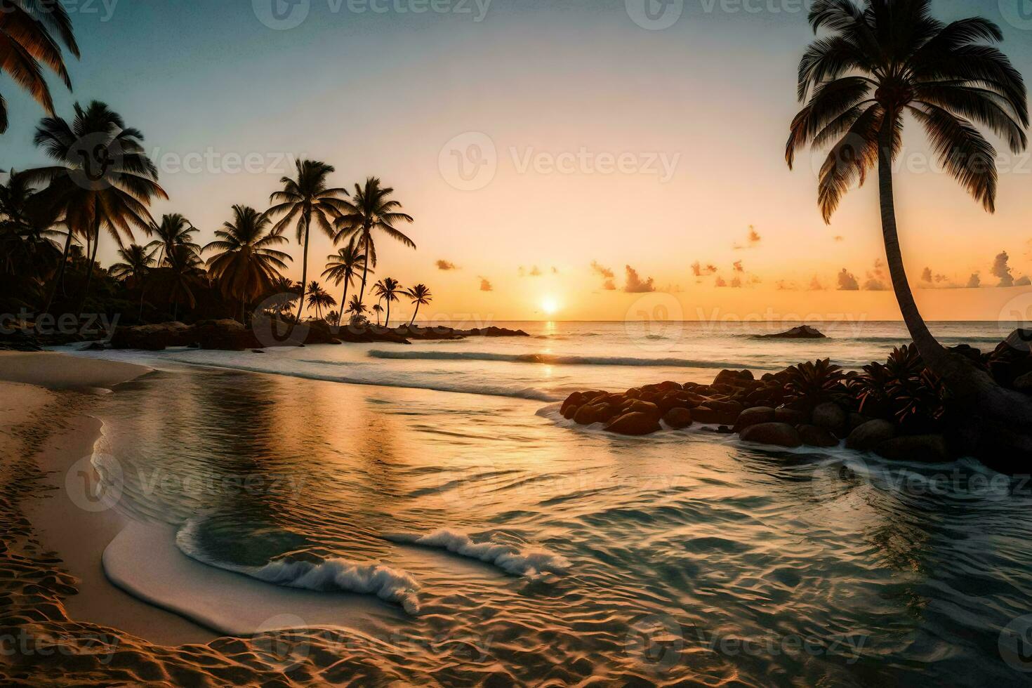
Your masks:
<svg viewBox="0 0 1032 688"><path fill-rule="evenodd" d="M812 39L802 2L688 0L657 29L640 0L298 0L283 6L299 24L273 29L270 1L72 8L83 59L72 94L52 81L59 113L103 100L141 129L171 196L153 214L182 212L201 243L233 203L264 209L293 159L315 158L336 167L337 186L379 175L394 187L419 248L381 239L377 273L429 286L427 316L899 317L878 291L875 185L826 226L823 156L784 164ZM1000 24L1032 78L1032 19L1010 8L1022 1L934 8ZM31 144L41 110L9 83L0 92L11 121L0 167L42 164ZM996 320L1030 290L998 288L994 261L1006 252L1012 280L1032 275L1032 160L1001 157L990 216L937 171L912 121L905 142L899 223L912 284L930 268L926 317ZM315 240L317 274L332 251ZM975 273L981 288L961 289ZM850 275L859 290L840 291Z"/></svg>

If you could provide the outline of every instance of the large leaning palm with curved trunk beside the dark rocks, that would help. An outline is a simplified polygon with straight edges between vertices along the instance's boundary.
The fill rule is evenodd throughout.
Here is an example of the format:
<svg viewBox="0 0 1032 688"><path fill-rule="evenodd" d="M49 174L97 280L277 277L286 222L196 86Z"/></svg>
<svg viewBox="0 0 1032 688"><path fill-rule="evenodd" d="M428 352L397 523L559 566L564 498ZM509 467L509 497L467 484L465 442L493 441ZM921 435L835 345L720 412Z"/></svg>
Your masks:
<svg viewBox="0 0 1032 688"><path fill-rule="evenodd" d="M799 98L809 100L792 123L785 157L807 144L831 145L820 168L818 200L830 222L843 194L877 165L881 229L900 310L925 364L979 417L1009 423L1032 452L1032 404L1004 390L968 360L944 349L914 303L896 228L893 159L902 148L903 114L923 125L944 169L989 212L995 209L996 151L976 128L1024 151L1029 124L1021 73L991 44L1003 39L979 18L944 25L930 0L815 0L809 21L814 41L799 67ZM1021 424L1025 429L1021 429ZM983 430L989 425L985 424ZM988 430L991 431L991 430Z"/></svg>

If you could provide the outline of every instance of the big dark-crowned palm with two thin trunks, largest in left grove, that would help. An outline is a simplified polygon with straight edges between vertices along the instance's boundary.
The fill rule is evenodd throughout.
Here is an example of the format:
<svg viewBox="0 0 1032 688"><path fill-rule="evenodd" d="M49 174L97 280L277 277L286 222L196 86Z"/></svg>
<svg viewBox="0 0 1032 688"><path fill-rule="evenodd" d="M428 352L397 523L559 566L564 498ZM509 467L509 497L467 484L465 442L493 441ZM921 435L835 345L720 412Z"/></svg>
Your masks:
<svg viewBox="0 0 1032 688"><path fill-rule="evenodd" d="M158 185L158 170L143 153L143 134L126 129L125 122L107 105L93 101L85 109L75 103L71 124L45 118L36 129L35 143L56 165L28 170L30 183L46 182L39 192L52 208L63 212L68 227L64 258L51 289L49 312L58 285L64 279L73 234L93 241L86 286L79 307L90 290L100 230L122 245L122 236L133 238L133 226L150 233L154 220L147 209L154 197L168 198Z"/></svg>

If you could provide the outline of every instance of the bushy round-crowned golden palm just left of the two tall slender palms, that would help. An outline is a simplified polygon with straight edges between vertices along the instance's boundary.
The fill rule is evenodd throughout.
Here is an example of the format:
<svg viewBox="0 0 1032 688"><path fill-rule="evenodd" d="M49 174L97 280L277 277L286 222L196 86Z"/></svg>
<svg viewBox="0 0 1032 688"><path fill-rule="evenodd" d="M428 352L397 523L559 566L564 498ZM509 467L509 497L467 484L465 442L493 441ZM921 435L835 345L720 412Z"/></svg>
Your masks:
<svg viewBox="0 0 1032 688"><path fill-rule="evenodd" d="M287 243L287 237L269 232L272 223L253 207L233 206L233 219L215 232L216 240L202 251L218 251L207 259L208 274L219 282L227 298L240 302L240 322L247 304L257 300L272 286L280 270L287 269L290 256L272 247Z"/></svg>

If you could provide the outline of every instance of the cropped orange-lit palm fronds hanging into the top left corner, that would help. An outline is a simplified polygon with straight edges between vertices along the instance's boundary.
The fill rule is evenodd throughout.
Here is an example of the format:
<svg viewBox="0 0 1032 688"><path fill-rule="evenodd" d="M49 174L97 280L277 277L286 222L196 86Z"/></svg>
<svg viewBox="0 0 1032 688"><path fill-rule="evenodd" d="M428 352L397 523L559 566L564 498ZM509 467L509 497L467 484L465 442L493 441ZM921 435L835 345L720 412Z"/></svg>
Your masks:
<svg viewBox="0 0 1032 688"><path fill-rule="evenodd" d="M40 63L50 67L68 89L71 79L57 38L78 57L71 20L60 2L50 0L3 0L0 5L0 73L29 92L54 116L54 100L43 78ZM0 134L7 131L7 106L0 98Z"/></svg>

